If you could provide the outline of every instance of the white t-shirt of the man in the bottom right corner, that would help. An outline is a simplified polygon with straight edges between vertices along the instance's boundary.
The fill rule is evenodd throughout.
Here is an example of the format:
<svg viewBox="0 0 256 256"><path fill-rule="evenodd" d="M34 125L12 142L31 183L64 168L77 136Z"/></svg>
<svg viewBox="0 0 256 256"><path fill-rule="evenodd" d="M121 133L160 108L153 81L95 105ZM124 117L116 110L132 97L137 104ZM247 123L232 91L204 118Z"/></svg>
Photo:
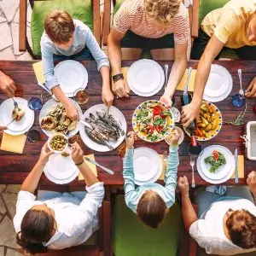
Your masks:
<svg viewBox="0 0 256 256"><path fill-rule="evenodd" d="M208 254L235 255L250 253L256 248L245 250L237 247L224 235L224 215L229 209L234 211L245 209L256 216L256 207L246 199L217 201L212 203L204 219L198 219L189 228L189 234ZM256 254L255 254L256 255Z"/></svg>

